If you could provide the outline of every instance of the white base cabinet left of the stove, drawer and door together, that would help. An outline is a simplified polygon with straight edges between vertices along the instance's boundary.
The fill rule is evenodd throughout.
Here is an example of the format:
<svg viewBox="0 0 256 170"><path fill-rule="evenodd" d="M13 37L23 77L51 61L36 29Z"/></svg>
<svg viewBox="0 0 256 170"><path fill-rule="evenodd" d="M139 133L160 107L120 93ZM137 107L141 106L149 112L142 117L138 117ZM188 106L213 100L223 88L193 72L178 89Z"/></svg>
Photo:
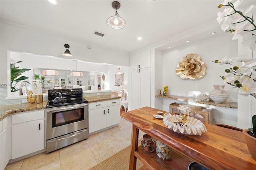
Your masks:
<svg viewBox="0 0 256 170"><path fill-rule="evenodd" d="M44 149L44 110L12 115L12 159Z"/></svg>

